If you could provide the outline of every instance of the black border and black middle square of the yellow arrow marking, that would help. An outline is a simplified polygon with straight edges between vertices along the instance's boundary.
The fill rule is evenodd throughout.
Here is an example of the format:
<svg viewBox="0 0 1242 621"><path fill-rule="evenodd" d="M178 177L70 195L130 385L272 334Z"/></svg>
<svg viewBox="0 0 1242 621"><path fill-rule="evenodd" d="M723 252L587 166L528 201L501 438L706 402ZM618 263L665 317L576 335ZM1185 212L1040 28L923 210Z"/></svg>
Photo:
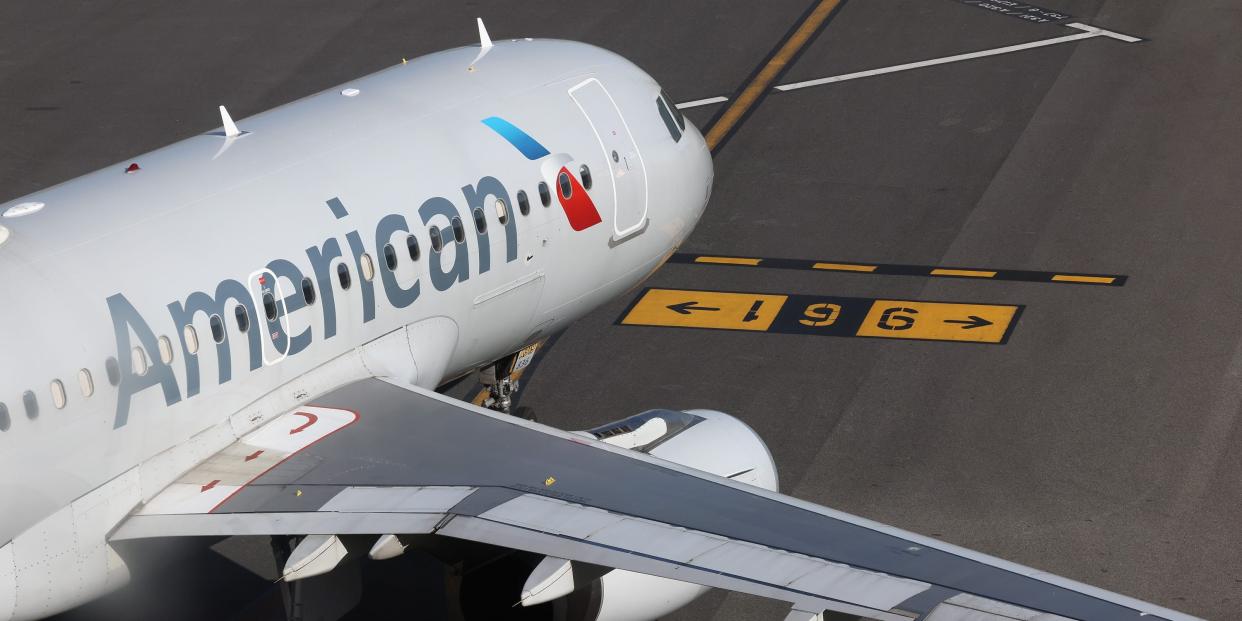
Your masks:
<svg viewBox="0 0 1242 621"><path fill-rule="evenodd" d="M630 317L630 313L647 297L651 291L682 291L686 293L729 293L739 296L785 296L787 299L781 304L781 308L776 312L776 318L773 319L771 325L766 330L746 330L737 328L717 328L709 325L660 325L660 324L642 324L642 323L625 323L625 319ZM955 304L955 306L999 306L999 307L1012 307L1013 317L1010 319L1009 325L1005 327L1005 333L1001 335L1000 340L986 342L986 340L956 340L956 339L922 339L913 337L872 337L867 334L858 334L862 329L862 323L867 318L868 310L872 304L881 299L893 299L894 302L914 302L922 304ZM802 318L802 312L806 309L806 303L823 303L823 302L836 302L841 303L842 307L851 304L856 307L856 310L851 313L851 318L843 320L840 325L833 325L832 330L825 330L822 328L805 328L797 323L799 318ZM989 302L959 302L959 301L945 301L945 299L909 299L902 301L897 298L877 297L877 298L854 298L847 296L812 296L805 293L770 293L770 292L754 292L754 291L727 291L727 289L682 289L674 287L643 287L638 291L628 304L626 304L625 310L612 322L612 325L620 325L622 328L657 328L657 329L689 329L689 330L712 330L712 332L734 332L738 334L792 334L792 335L816 335L816 337L840 337L840 338L859 338L859 339L872 339L872 340L918 340L923 343L965 343L970 345L1005 345L1009 344L1010 337L1013 335L1013 330L1017 328L1018 319L1022 318L1022 313L1026 310L1026 304L992 304ZM846 333L848 332L848 333Z"/></svg>

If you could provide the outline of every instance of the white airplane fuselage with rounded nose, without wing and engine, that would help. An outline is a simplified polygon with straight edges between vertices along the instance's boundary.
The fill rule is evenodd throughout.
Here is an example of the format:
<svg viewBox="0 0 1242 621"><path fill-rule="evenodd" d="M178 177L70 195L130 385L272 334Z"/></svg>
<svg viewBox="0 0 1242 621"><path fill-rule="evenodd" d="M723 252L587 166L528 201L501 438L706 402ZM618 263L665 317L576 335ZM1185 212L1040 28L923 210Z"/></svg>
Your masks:
<svg viewBox="0 0 1242 621"><path fill-rule="evenodd" d="M646 73L564 41L478 55L0 205L43 204L0 219L0 620L103 592L124 570L107 533L248 428L368 375L440 385L633 287L689 233L710 158L692 125L671 137ZM550 153L532 159L492 117ZM584 165L602 221L575 230L558 181L585 184Z"/></svg>

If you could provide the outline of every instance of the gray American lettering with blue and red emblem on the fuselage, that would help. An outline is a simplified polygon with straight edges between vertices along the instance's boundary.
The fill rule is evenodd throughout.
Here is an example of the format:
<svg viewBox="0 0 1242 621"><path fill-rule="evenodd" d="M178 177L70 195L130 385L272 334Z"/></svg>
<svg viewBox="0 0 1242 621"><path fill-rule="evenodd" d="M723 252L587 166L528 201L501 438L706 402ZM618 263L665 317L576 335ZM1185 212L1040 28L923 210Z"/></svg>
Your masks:
<svg viewBox="0 0 1242 621"><path fill-rule="evenodd" d="M529 160L538 160L549 155L548 149L534 140L534 138L498 117L489 117L483 120L483 124L496 130L497 134L503 137ZM582 183L565 166L561 166L554 185L553 194L556 195L574 231L582 231L600 224L599 210L587 195ZM476 184L463 185L461 193L462 200L466 204L465 216L448 197L432 196L425 200L417 209L417 216L422 227L431 227L431 222L437 217L442 219L442 221L463 226L460 222L472 221L476 211L482 210L486 214L484 204L488 197L493 197L496 201L503 201L508 210L508 217L501 219L504 230L504 261L507 263L517 261L518 219L512 214L513 201L504 185L494 176L483 176ZM338 220L349 215L347 206L339 197L329 199L327 206ZM479 226L474 226L473 229L476 237L473 257L471 257L469 252L461 250L462 246L468 245L465 243L463 238L455 238L457 231L450 232L447 229L443 232L446 235L443 243L458 242L460 250L452 253L438 251L428 253L428 276L431 287L436 291L448 291L455 284L469 279L472 262L478 266L477 273L479 274L491 271L493 257L488 229ZM412 235L412 230L414 227L411 227L404 214L388 214L380 217L375 226L373 237L375 248L384 248L399 233L410 236ZM368 248L358 231L347 232L344 243L337 237L329 237L306 248L306 256L301 263L309 267L309 276L313 277L312 282L314 283L314 288L318 289L319 299L315 302L323 313L323 335L320 339L327 340L337 334L337 299L334 297L333 278L337 278L338 274L334 272L334 266L343 261L351 262L354 266L353 273L363 274L364 256L375 256L375 253L368 253ZM381 260L376 263L371 265L370 268L379 276L378 279L381 283L383 298L376 296L375 282L370 278L358 278L355 283L361 294L363 323L375 319L375 304L378 299L386 301L394 309L401 309L414 304L422 294L421 278L415 278L412 284L404 287L397 282L395 271L389 266L388 261ZM159 351L159 342L148 322L123 293L117 293L108 298L108 310L112 314L113 330L117 338L117 366L120 375L113 428L119 428L128 422L130 401L134 395L143 390L159 386L164 392L164 402L169 406L200 392L201 369L197 358L197 344L188 342L188 334L196 334L191 327L199 315L209 318L209 322L219 323L224 318L231 317L229 309L241 307L245 309L245 317L252 318L256 322L267 322L266 329L255 325L253 329L246 329L243 333L248 345L248 366L251 371L260 369L265 364L265 338L270 339L271 348L281 353L281 358L297 355L310 347L314 337L309 325L301 329L297 334L291 334L286 329L282 329L282 322L286 322L288 315L310 306L310 302L308 302L307 296L302 291L302 283L308 279L307 272L293 260L274 258L263 270L256 272L256 274L257 278L253 279L253 284L257 286L258 291L253 291L248 286L251 283L226 278L216 283L212 291L195 291L184 299L166 304L169 318L174 325L174 333L181 344L181 360L184 360L185 365L184 395L171 366L160 356L149 356L149 366L145 371L134 371L134 348L140 347L145 351L154 353ZM278 287L277 283L281 279L292 283L292 291L283 291L282 287ZM279 299L276 299L276 292L278 291L282 294ZM270 308L263 308L265 313L258 313L258 308L256 307L267 307L266 302L268 302L270 296L271 302L276 307L274 313ZM261 298L262 302L257 298ZM314 298L312 297L312 299ZM224 329L222 325L220 329L224 332L222 338L212 340L216 347L216 381L217 384L225 384L233 376L232 351L227 334L229 330ZM191 338L196 339L196 337Z"/></svg>

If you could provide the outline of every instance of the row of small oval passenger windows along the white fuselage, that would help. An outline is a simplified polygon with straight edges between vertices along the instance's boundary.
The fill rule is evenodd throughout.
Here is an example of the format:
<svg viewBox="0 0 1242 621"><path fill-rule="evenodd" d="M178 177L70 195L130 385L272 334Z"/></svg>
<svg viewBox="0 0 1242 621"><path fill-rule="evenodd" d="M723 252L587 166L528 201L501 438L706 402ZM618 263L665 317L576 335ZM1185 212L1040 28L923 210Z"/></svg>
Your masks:
<svg viewBox="0 0 1242 621"><path fill-rule="evenodd" d="M591 170L584 164L579 169L579 173L581 175L582 188L590 190L592 185ZM566 173L561 173L560 175L556 176L556 185L561 197L568 200L573 196L574 185L570 181L569 175ZM551 193L549 191L546 183L539 181L538 193L539 193L539 202L545 207L551 206ZM527 191L518 190L517 200L518 200L518 212L522 214L523 216L529 215L530 200L527 196ZM481 207L476 207L471 215L474 220L474 230L478 231L479 235L486 233L487 215L483 212L483 210ZM499 220L502 225L507 225L509 222L508 205L505 205L504 201L499 199L497 199L496 201L496 217L497 220ZM452 229L452 241L456 243L465 243L466 227L462 225L461 217L453 217L450 221L450 227ZM432 252L440 252L441 250L443 250L446 240L445 240L445 233L440 230L440 227L437 226L430 227L427 230L427 236L431 240ZM396 270L396 266L399 263L397 250L391 243L388 243L384 246L383 252L384 252L384 265L390 271ZM419 238L415 237L414 235L410 235L405 238L405 252L411 261L419 261L419 258L421 257L422 253L419 248ZM363 253L359 257L358 262L361 266L363 278L365 278L368 282L374 279L375 263L373 262L371 256ZM345 291L348 291L353 286L353 276L349 272L349 266L347 266L344 262L337 265L337 282L340 284L340 288ZM315 299L318 298L315 293L314 281L310 279L309 277L302 278L301 288L302 288L302 299L306 301L307 306L313 306L315 303ZM279 309L276 303L276 297L272 294L272 292L263 292L262 304L263 304L263 317L267 318L270 323L274 322L279 314ZM247 310L247 307L245 304L237 304L236 307L233 307L233 320L237 323L237 329L240 332L245 333L250 330L250 312ZM227 334L225 333L224 319L219 314L214 314L207 319L207 325L211 328L211 340L214 340L215 343L224 343L225 338L227 337ZM190 355L195 355L199 353L199 333L194 328L194 325L186 325L181 333L181 338L185 340L185 349L186 351L190 353ZM156 339L156 344L159 347L160 361L164 364L171 364L173 358L175 355L173 349L173 340L169 339L168 337L160 335ZM134 375L147 375L147 373L152 368L150 359L148 359L147 356L147 350L140 347L135 347L130 353L130 359L133 360L132 371L134 373ZM107 363L104 364L104 369L108 374L108 383L112 384L113 386L119 385L120 366L119 363L117 363L117 359L108 358ZM83 399L94 395L94 378L92 376L89 369L79 370L77 379L78 379L78 391L82 392ZM68 391L65 388L63 381L58 379L52 380L51 384L48 385L48 392L51 394L52 397L52 406L55 406L57 410L63 410L65 406L68 405ZM34 391L27 390L26 392L24 392L21 395L21 402L22 402L22 409L26 411L26 416L29 419L39 417L39 397L35 395ZM12 426L12 419L9 414L9 407L5 404L0 402L0 432L9 431L11 426Z"/></svg>

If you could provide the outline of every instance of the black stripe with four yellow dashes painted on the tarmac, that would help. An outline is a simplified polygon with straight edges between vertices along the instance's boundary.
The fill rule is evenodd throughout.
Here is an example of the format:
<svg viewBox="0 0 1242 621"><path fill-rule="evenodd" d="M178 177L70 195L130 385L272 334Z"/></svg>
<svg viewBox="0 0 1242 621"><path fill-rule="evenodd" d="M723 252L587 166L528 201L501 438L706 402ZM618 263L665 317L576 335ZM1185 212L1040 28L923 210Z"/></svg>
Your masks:
<svg viewBox="0 0 1242 621"><path fill-rule="evenodd" d="M700 261L704 258L705 261ZM717 260L717 261L712 261ZM963 278L968 281L1016 281L1016 282L1042 282L1053 284L1084 284L1088 287L1124 287L1129 276L1110 273L1084 273L1084 272L1036 272L1030 270L996 270L985 267L953 267L953 266L914 266L902 263L872 263L867 261L825 261L807 258L761 258L743 257L733 255L703 255L693 252L676 252L668 257L669 263L686 265L723 265L738 267L771 267L775 270L802 270L807 272L846 272L846 273L873 273L882 276L918 276L924 278ZM828 263L842 266L841 268L817 268L816 265ZM853 268L850 268L853 267ZM934 273L935 271L949 272L975 272L976 276L965 273ZM994 276L981 276L995 272ZM1098 282L1095 279L1107 279Z"/></svg>

